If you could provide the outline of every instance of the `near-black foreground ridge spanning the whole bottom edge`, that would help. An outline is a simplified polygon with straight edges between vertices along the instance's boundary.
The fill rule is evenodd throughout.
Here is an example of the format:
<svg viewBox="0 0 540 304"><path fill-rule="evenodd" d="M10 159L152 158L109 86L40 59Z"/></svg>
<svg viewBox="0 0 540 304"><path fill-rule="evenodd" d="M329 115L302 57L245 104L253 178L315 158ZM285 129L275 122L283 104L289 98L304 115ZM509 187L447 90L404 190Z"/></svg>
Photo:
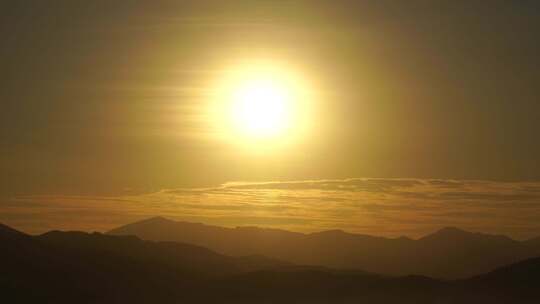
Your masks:
<svg viewBox="0 0 540 304"><path fill-rule="evenodd" d="M0 226L6 303L538 303L540 258L459 281L230 257L182 243Z"/></svg>

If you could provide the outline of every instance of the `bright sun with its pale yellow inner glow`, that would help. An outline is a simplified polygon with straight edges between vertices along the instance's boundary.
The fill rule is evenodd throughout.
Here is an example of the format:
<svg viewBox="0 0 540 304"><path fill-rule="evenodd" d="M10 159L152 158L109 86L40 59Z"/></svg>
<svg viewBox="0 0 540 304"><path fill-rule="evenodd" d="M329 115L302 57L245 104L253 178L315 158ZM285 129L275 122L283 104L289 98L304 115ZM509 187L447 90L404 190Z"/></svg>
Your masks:
<svg viewBox="0 0 540 304"><path fill-rule="evenodd" d="M306 129L307 86L292 69L260 62L238 65L218 88L214 121L234 142L290 143Z"/></svg>

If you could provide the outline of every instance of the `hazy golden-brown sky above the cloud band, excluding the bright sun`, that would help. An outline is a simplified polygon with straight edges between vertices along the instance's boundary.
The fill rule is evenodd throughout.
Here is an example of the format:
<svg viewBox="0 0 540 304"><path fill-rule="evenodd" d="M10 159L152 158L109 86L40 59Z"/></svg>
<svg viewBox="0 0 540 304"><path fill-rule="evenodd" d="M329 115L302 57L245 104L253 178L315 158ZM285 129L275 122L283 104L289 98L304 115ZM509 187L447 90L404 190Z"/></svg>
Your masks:
<svg viewBox="0 0 540 304"><path fill-rule="evenodd" d="M231 181L540 179L537 1L3 1L0 17L4 210ZM310 84L311 128L286 148L213 136L209 96L246 60Z"/></svg>

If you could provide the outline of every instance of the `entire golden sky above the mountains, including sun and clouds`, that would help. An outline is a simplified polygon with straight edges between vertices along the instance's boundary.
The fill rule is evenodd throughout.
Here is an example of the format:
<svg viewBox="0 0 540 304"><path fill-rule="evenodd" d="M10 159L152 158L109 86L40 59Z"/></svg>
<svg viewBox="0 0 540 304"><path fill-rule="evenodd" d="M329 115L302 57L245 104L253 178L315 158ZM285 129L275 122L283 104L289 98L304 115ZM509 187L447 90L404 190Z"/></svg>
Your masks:
<svg viewBox="0 0 540 304"><path fill-rule="evenodd" d="M0 221L540 229L534 2L30 2L0 13ZM320 189L358 177L424 184Z"/></svg>

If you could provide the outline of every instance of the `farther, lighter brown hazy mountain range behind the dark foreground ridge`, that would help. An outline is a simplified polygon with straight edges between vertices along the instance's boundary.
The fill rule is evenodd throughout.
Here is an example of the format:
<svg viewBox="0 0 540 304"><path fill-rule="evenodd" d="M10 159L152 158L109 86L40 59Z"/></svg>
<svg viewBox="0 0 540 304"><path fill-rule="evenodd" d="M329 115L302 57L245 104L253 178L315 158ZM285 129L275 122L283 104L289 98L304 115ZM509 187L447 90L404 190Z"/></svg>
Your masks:
<svg viewBox="0 0 540 304"><path fill-rule="evenodd" d="M303 234L256 227L224 228L156 217L108 233L196 244L232 256L264 255L302 265L444 279L465 278L540 255L540 242L536 240L520 242L451 227L412 240L341 230Z"/></svg>

